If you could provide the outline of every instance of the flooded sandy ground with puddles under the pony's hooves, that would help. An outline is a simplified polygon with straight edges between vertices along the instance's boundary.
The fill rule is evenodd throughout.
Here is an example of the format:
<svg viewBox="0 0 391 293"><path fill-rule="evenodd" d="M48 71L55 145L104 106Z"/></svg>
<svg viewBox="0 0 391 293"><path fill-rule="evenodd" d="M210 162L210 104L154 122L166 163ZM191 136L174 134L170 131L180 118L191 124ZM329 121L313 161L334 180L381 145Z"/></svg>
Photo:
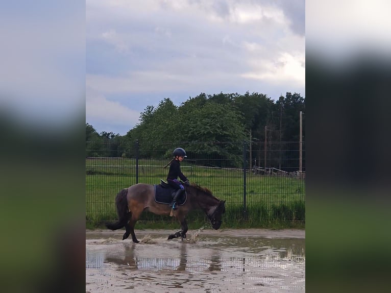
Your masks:
<svg viewBox="0 0 391 293"><path fill-rule="evenodd" d="M304 292L304 230L86 232L86 292Z"/></svg>

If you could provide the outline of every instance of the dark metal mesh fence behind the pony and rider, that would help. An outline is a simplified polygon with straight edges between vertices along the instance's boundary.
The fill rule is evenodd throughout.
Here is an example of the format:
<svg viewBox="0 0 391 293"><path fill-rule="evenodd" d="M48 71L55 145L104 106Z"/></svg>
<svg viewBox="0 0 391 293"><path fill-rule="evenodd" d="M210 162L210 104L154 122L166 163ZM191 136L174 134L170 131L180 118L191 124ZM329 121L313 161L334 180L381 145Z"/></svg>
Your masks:
<svg viewBox="0 0 391 293"><path fill-rule="evenodd" d="M226 200L226 216L238 221L305 221L305 143L300 148L299 142L248 141L136 141L127 142L126 150L86 142L86 221L114 219L119 190L166 179L168 168L163 166L177 147L188 156L181 163L182 173Z"/></svg>

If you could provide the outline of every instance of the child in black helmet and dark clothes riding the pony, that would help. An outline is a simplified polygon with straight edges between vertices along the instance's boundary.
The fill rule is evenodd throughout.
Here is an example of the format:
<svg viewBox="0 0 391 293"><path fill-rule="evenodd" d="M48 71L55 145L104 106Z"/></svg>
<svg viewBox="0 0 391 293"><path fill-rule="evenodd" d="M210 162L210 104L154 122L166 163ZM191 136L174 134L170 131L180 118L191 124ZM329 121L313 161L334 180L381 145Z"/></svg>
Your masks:
<svg viewBox="0 0 391 293"><path fill-rule="evenodd" d="M172 159L170 162L171 165L169 166L168 170L167 182L170 186L178 189L173 197L172 203L170 203L170 206L173 207L173 210L176 210L177 199L183 194L183 192L185 192L185 188L183 187L182 183L178 181L178 177L184 182L185 185L190 185L190 183L186 176L182 174L180 166L180 162L182 162L184 158L187 158L185 150L182 148L176 148L173 155L174 159Z"/></svg>

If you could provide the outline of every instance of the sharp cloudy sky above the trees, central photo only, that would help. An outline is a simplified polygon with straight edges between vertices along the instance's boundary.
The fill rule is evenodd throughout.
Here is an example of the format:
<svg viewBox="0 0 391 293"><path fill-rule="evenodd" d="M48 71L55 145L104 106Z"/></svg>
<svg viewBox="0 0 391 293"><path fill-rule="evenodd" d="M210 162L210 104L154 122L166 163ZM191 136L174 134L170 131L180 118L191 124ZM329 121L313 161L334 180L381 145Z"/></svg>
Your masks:
<svg viewBox="0 0 391 293"><path fill-rule="evenodd" d="M200 93L305 96L305 2L87 0L86 123L125 135Z"/></svg>

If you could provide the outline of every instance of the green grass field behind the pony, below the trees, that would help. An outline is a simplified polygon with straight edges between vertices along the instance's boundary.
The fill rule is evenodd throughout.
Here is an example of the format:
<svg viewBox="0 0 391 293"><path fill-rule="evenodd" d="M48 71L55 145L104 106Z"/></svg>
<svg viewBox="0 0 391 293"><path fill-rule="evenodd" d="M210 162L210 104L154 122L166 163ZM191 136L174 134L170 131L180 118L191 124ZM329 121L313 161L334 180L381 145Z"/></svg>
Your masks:
<svg viewBox="0 0 391 293"><path fill-rule="evenodd" d="M138 182L159 184L168 169L162 166L166 160L139 160ZM86 160L86 222L96 227L104 221L117 218L115 196L123 188L136 184L135 160L87 159ZM246 173L246 208L243 212L243 171L240 169L208 168L183 162L182 172L190 182L212 190L215 197L226 200L223 228L285 228L305 225L305 180L285 176L260 176ZM189 228L206 223L200 211L188 215ZM162 221L163 220L163 221ZM158 223L163 227L176 225L173 218L145 212L138 227Z"/></svg>

